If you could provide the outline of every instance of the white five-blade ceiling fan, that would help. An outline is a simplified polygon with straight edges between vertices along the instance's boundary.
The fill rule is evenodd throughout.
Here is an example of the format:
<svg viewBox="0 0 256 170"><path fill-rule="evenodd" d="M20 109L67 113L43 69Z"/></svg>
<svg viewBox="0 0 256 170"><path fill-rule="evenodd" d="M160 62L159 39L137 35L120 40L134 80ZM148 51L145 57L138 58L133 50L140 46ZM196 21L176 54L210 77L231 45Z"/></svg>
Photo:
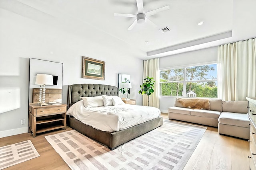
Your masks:
<svg viewBox="0 0 256 170"><path fill-rule="evenodd" d="M136 25L136 23L144 23L145 21L151 23L152 25L156 26L152 21L150 21L147 17L152 16L158 12L162 12L165 10L169 10L170 6L164 6L162 8L158 8L149 12L143 12L143 0L136 0L137 1L137 8L138 14L120 14L114 13L114 16L122 16L122 17L134 17L136 20L132 23L132 25L128 28L128 30L132 30L132 28Z"/></svg>

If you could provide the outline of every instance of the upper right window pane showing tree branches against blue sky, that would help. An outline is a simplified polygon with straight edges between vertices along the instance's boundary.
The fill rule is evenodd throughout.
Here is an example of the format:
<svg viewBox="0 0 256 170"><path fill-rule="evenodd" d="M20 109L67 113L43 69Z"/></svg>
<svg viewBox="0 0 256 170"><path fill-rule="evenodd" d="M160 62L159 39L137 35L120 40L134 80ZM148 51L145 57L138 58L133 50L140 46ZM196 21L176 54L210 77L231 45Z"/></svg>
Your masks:
<svg viewBox="0 0 256 170"><path fill-rule="evenodd" d="M186 80L217 79L217 64L192 66L186 68Z"/></svg>

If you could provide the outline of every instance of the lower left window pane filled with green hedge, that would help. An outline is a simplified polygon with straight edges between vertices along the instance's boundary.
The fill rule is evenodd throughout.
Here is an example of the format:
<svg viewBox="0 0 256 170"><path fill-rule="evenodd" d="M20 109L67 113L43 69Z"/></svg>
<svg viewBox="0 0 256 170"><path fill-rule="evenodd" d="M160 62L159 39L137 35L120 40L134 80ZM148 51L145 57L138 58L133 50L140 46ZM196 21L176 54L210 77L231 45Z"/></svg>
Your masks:
<svg viewBox="0 0 256 170"><path fill-rule="evenodd" d="M160 83L161 96L183 96L183 83Z"/></svg>

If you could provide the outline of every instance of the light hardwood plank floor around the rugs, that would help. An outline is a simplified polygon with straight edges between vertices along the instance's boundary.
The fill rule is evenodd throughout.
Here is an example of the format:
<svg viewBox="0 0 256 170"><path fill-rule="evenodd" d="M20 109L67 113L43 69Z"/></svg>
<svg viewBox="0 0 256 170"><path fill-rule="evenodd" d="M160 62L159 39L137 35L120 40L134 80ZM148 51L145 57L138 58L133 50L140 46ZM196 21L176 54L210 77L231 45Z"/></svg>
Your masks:
<svg viewBox="0 0 256 170"><path fill-rule="evenodd" d="M168 119L168 114L162 113L162 116L164 119ZM71 128L67 127L65 131L69 130ZM64 130L42 133L36 137L30 133L23 133L0 138L0 147L30 139L40 154L37 158L5 170L69 170L68 165L44 138L44 136L62 131ZM249 170L248 155L248 141L219 135L217 128L207 127L184 170Z"/></svg>

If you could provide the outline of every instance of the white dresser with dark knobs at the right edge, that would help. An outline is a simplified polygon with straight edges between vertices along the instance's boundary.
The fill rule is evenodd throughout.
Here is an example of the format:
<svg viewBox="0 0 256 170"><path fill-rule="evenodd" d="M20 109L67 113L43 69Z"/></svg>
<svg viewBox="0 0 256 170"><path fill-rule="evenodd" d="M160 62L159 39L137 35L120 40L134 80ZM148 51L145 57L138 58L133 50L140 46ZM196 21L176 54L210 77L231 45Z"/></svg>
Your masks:
<svg viewBox="0 0 256 170"><path fill-rule="evenodd" d="M250 169L256 170L256 98L246 98L248 100L248 116L250 118Z"/></svg>

